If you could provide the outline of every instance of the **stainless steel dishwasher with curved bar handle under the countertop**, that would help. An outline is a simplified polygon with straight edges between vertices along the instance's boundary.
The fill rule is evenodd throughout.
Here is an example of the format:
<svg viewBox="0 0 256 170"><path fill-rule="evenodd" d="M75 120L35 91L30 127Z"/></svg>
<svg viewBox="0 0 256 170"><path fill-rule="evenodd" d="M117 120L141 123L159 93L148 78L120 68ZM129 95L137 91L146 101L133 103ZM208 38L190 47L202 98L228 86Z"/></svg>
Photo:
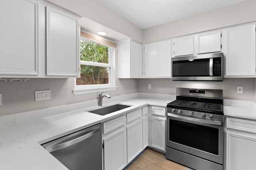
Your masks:
<svg viewBox="0 0 256 170"><path fill-rule="evenodd" d="M70 170L102 170L102 123L42 145Z"/></svg>

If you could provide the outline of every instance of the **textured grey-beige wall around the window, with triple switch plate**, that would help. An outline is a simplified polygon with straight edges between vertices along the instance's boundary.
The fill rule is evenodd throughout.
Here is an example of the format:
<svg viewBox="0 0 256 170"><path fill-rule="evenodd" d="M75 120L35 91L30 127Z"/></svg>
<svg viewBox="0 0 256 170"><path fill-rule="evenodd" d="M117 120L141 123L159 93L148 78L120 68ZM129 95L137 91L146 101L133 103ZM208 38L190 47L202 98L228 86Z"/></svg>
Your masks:
<svg viewBox="0 0 256 170"><path fill-rule="evenodd" d="M117 54L117 51L116 51ZM116 57L116 68L117 68ZM117 90L106 92L110 96L138 92L136 79L118 79L116 72ZM51 90L51 100L35 102L34 91ZM74 96L74 78L32 78L28 82L1 82L2 106L0 116L22 111L30 111L76 102L95 100L99 93ZM107 100L107 99L106 99Z"/></svg>

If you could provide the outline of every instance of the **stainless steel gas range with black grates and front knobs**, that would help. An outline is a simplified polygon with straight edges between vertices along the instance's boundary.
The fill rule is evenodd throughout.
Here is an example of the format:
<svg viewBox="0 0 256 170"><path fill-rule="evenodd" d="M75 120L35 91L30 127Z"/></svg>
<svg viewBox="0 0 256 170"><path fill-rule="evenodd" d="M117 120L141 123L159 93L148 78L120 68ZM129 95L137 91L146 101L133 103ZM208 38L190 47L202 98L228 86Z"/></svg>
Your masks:
<svg viewBox="0 0 256 170"><path fill-rule="evenodd" d="M223 91L176 88L167 104L166 158L196 170L223 170Z"/></svg>

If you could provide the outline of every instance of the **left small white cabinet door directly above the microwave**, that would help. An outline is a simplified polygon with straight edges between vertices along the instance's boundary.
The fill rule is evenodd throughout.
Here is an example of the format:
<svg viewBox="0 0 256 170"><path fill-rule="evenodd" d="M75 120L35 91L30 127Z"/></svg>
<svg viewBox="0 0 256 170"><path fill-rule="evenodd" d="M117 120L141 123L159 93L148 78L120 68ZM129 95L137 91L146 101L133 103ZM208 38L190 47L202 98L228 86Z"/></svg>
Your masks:
<svg viewBox="0 0 256 170"><path fill-rule="evenodd" d="M174 39L174 56L193 55L193 42L192 36L180 37Z"/></svg>

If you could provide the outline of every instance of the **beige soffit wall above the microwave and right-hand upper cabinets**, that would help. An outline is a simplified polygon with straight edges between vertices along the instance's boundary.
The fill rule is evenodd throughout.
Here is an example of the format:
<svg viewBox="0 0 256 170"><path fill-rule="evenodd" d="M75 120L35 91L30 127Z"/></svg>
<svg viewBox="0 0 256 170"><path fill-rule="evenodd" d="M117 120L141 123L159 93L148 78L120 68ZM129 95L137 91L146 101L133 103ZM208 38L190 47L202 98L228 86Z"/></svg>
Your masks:
<svg viewBox="0 0 256 170"><path fill-rule="evenodd" d="M143 42L148 43L256 21L256 0L248 0L203 14L172 21L143 30Z"/></svg>

